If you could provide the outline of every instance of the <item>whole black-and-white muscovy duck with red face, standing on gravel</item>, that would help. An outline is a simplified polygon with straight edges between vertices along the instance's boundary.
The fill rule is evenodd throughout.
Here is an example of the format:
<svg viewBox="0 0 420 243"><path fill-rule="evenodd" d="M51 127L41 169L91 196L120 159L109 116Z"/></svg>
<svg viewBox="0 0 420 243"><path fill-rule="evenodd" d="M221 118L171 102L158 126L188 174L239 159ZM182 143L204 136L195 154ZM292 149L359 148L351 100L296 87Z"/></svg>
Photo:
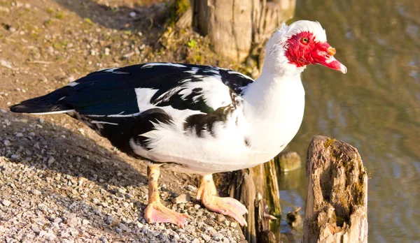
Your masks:
<svg viewBox="0 0 420 243"><path fill-rule="evenodd" d="M297 133L304 111L300 73L321 64L346 73L318 22L283 26L265 47L255 82L225 68L148 63L90 73L50 94L10 107L37 115L66 113L121 151L146 159L148 223L183 227L188 216L160 202L160 167L202 175L197 200L246 225L244 205L217 196L212 174L269 161Z"/></svg>

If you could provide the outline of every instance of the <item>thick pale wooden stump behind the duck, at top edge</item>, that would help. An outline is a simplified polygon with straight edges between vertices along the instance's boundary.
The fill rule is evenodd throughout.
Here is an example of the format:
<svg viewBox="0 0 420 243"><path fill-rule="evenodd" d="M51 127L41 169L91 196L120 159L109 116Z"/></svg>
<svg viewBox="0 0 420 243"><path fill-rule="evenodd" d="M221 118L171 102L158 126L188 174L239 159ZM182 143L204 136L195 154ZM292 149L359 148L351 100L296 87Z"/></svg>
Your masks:
<svg viewBox="0 0 420 243"><path fill-rule="evenodd" d="M216 53L244 61L251 47L290 17L295 0L192 0L193 26L208 35Z"/></svg>

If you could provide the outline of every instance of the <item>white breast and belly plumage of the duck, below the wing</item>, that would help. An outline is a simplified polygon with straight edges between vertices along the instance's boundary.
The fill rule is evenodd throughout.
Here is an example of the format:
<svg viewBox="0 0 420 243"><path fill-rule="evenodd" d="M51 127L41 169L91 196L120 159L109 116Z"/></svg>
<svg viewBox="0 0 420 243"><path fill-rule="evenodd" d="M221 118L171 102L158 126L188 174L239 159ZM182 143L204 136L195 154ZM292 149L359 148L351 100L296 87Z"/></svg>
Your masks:
<svg viewBox="0 0 420 243"><path fill-rule="evenodd" d="M132 148L153 161L179 164L173 170L202 175L265 163L295 136L304 110L304 90L299 77L270 84L274 85L272 89L253 87L258 97L245 94L244 102L227 121L214 124L214 134L198 137L185 131L181 123L155 124L155 130L144 135L152 149L138 147L134 142ZM183 122L188 117L188 112L178 113L177 121Z"/></svg>

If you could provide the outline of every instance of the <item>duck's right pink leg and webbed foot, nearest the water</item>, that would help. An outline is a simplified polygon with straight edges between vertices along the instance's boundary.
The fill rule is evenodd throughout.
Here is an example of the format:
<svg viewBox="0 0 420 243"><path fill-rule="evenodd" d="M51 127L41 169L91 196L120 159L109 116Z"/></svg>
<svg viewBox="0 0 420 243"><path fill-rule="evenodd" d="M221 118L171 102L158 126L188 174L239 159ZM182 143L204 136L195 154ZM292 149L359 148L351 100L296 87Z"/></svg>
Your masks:
<svg viewBox="0 0 420 243"><path fill-rule="evenodd" d="M232 216L241 226L247 226L243 214L248 213L248 210L235 198L220 198L216 196L216 186L214 185L213 177L211 175L204 175L200 188L197 190L197 200L202 200L203 205L207 209Z"/></svg>

